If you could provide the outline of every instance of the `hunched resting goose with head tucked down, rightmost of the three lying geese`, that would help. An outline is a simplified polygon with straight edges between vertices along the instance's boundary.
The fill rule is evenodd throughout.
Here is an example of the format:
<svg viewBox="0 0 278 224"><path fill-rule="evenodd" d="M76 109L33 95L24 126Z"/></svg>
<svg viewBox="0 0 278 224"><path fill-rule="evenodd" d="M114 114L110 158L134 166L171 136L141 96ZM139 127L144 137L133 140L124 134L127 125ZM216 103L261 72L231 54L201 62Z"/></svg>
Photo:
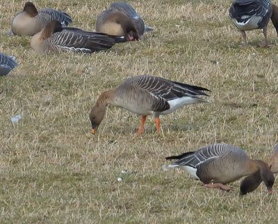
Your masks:
<svg viewBox="0 0 278 224"><path fill-rule="evenodd" d="M128 3L111 3L110 8L97 17L96 31L109 35L124 35L126 40L140 40L145 31L152 31L145 26L140 15Z"/></svg>

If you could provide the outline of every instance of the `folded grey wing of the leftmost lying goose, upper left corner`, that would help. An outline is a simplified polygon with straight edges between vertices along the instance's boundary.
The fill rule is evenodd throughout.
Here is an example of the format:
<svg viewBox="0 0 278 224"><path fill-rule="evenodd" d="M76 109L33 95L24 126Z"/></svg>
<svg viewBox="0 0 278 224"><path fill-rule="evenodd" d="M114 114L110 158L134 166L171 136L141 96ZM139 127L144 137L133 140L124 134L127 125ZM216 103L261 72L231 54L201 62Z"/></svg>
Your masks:
<svg viewBox="0 0 278 224"><path fill-rule="evenodd" d="M51 8L42 8L39 11L38 17L47 21L57 20L62 26L67 26L72 23L72 17L67 12L54 10Z"/></svg>

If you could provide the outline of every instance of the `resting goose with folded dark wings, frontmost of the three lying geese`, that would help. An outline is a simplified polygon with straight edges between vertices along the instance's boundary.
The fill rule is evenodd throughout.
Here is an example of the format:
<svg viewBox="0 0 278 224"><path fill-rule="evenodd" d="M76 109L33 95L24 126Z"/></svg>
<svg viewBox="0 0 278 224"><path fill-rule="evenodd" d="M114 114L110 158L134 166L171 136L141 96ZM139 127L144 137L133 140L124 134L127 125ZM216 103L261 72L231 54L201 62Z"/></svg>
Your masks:
<svg viewBox="0 0 278 224"><path fill-rule="evenodd" d="M60 22L50 21L40 33L33 35L31 47L38 53L72 51L92 53L110 49L115 43L125 42L124 37L114 37L104 33L83 31L79 28L63 27Z"/></svg>

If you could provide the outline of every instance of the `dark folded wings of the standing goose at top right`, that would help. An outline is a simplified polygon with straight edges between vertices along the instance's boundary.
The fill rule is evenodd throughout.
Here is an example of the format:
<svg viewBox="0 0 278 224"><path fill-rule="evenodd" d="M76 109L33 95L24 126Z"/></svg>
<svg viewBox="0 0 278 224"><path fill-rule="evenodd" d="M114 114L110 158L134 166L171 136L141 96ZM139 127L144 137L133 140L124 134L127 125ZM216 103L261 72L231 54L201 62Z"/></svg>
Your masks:
<svg viewBox="0 0 278 224"><path fill-rule="evenodd" d="M264 17L270 8L269 0L236 0L231 5L229 15L241 22L253 16Z"/></svg>

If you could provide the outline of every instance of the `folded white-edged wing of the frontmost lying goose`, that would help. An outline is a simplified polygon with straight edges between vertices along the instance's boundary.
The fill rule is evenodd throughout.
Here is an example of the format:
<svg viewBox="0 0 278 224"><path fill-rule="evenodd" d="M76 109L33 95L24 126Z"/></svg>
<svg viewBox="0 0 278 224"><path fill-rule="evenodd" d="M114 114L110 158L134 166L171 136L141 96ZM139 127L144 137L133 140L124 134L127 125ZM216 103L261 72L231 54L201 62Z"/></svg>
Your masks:
<svg viewBox="0 0 278 224"><path fill-rule="evenodd" d="M49 46L56 46L58 49L64 51L74 51L81 53L92 53L110 49L115 41L108 36L104 35L86 35L83 32L76 32L70 30L63 30L54 33L47 40Z"/></svg>

